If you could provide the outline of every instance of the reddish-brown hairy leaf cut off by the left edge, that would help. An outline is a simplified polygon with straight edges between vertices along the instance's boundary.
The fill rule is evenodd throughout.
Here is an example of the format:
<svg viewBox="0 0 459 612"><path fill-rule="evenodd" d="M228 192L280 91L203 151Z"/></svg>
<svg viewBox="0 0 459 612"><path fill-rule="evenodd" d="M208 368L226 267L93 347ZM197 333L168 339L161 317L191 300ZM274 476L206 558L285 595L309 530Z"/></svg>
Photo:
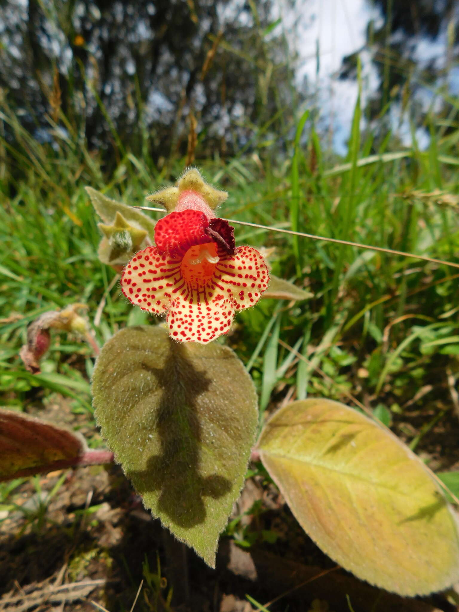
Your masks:
<svg viewBox="0 0 459 612"><path fill-rule="evenodd" d="M76 465L86 450L78 433L0 408L0 482Z"/></svg>

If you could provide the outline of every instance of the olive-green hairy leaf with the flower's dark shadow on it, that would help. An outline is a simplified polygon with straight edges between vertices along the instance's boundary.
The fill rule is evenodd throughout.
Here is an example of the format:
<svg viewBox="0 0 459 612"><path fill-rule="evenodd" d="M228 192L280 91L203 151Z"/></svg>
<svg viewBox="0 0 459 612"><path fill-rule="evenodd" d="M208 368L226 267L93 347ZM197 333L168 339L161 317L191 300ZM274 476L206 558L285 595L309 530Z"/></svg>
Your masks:
<svg viewBox="0 0 459 612"><path fill-rule="evenodd" d="M95 418L144 505L214 567L257 424L252 379L231 349L127 327L97 359Z"/></svg>

